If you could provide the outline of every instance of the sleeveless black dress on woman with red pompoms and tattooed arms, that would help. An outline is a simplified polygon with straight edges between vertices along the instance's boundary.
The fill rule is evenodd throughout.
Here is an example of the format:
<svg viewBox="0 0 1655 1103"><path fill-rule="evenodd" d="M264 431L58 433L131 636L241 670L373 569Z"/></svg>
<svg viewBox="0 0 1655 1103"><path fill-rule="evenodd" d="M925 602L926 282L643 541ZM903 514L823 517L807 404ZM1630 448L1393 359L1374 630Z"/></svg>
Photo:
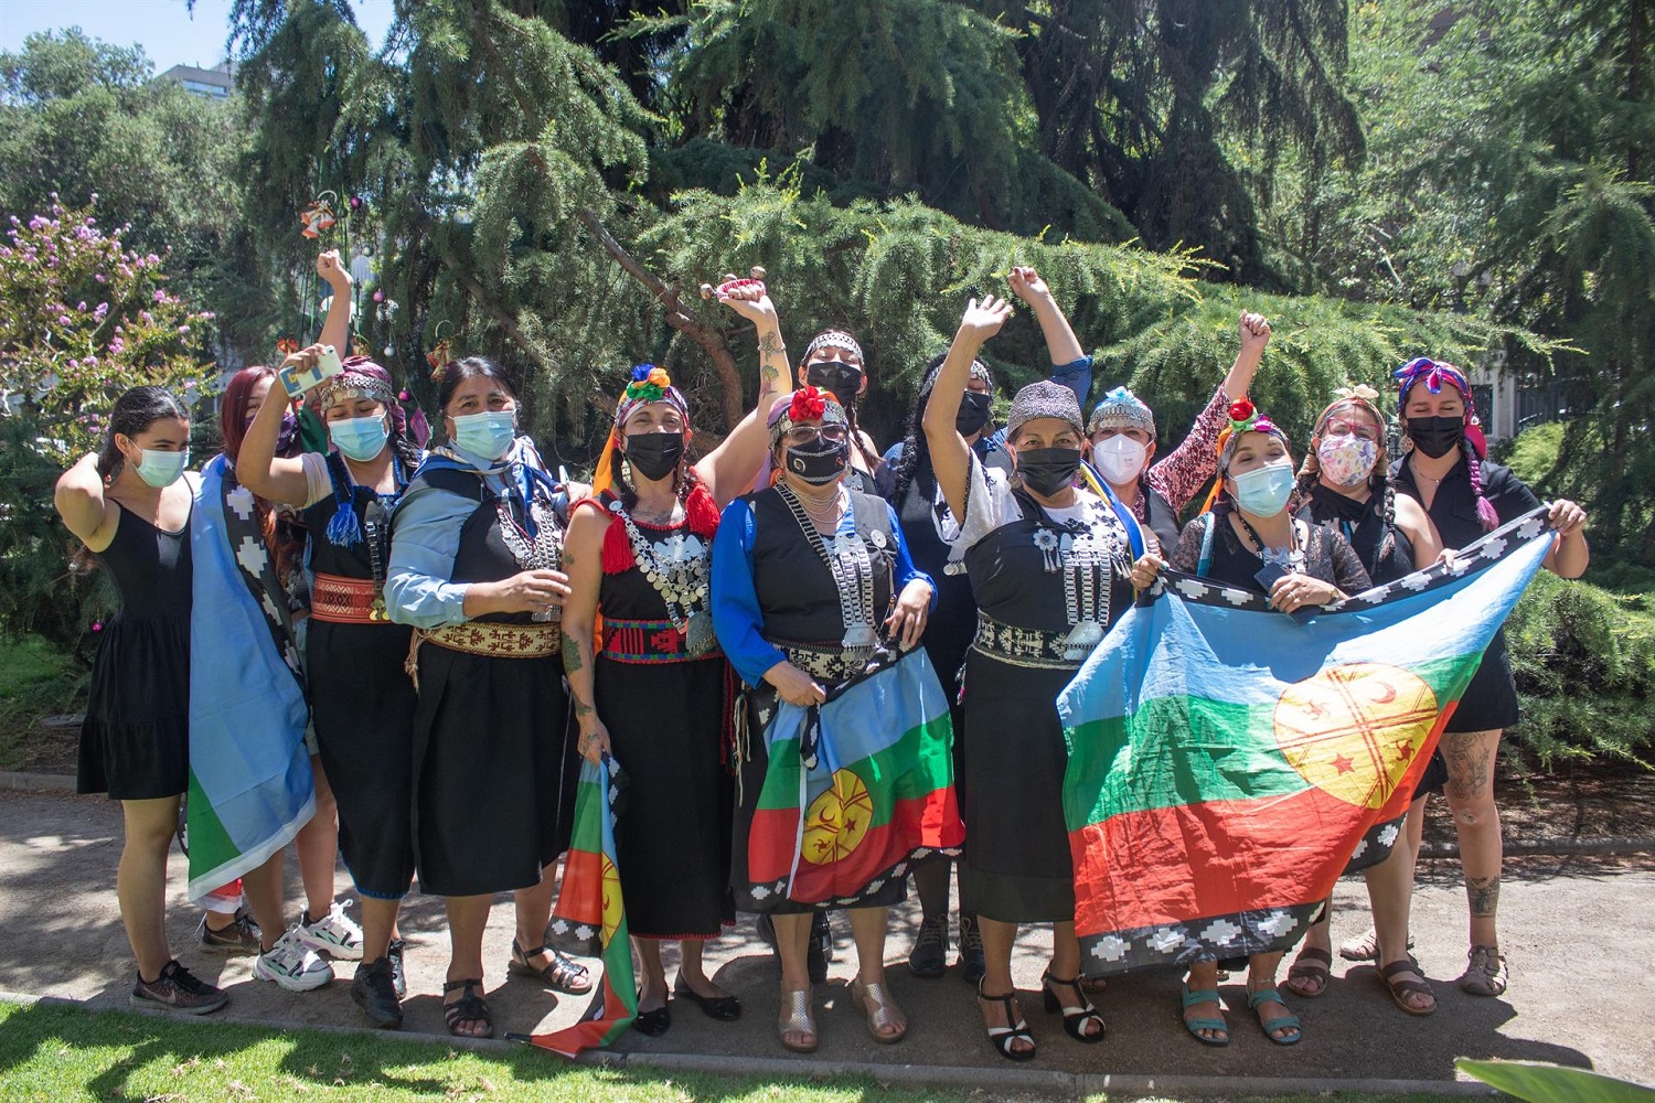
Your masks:
<svg viewBox="0 0 1655 1103"><path fill-rule="evenodd" d="M707 509L713 511L710 498ZM619 519L606 539L616 531L624 532ZM712 556L712 532L697 536L688 521L639 524L639 532L659 559L700 556L705 564ZM627 779L616 822L627 926L637 938L715 938L735 918L733 782L723 744L730 665L717 642L698 658L684 657L685 635L636 559L626 571L604 572L597 605L604 650L592 668L594 706Z"/></svg>

